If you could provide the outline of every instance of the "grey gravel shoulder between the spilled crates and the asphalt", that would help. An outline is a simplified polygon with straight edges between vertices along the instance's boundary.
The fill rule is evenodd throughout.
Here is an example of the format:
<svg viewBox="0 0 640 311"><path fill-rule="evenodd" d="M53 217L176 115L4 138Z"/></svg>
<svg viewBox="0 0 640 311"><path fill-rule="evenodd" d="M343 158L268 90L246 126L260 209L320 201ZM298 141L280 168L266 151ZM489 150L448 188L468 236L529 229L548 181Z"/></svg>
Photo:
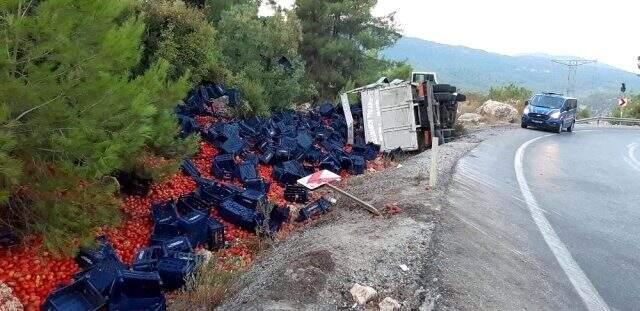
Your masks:
<svg viewBox="0 0 640 311"><path fill-rule="evenodd" d="M395 205L401 212L374 217L334 196L339 200L330 213L266 250L242 276L241 289L219 309L350 309L354 302L349 289L354 283L378 291L369 308L391 297L403 310L433 309L440 297L434 236L452 171L481 141L511 129L476 129L442 145L435 189L428 188L430 150L396 168L350 178L346 189L352 194L381 210Z"/></svg>

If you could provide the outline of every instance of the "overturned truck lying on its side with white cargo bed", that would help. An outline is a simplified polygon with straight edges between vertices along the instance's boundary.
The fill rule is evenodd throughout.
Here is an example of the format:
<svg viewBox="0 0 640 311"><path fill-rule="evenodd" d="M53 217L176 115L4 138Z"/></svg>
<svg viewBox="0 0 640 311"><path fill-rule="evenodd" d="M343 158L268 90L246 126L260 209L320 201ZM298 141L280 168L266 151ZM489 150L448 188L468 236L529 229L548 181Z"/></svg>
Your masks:
<svg viewBox="0 0 640 311"><path fill-rule="evenodd" d="M458 103L466 101L466 96L457 93L455 86L435 83L435 75L426 81L417 77L414 74L412 82L381 78L342 94L347 123L351 119L349 95L356 94L362 103L367 143L380 145L384 151L413 151L429 147L431 137L438 137L441 143L451 141Z"/></svg>

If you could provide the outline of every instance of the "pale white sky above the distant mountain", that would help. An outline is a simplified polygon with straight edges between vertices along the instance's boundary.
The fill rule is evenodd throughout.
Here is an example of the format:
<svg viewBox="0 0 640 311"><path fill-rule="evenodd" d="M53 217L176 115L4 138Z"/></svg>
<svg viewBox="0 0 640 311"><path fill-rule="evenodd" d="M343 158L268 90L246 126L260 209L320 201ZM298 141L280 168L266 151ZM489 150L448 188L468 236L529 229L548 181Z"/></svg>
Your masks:
<svg viewBox="0 0 640 311"><path fill-rule="evenodd" d="M379 0L374 14L390 12L405 36L505 55L571 55L640 73L638 0Z"/></svg>

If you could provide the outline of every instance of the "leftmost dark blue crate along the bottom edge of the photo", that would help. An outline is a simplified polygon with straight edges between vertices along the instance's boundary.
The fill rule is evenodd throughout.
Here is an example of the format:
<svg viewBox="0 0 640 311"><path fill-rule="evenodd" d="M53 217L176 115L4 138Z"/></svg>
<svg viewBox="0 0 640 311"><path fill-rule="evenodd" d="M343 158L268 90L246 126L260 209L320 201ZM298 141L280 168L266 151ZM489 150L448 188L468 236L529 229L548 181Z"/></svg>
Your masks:
<svg viewBox="0 0 640 311"><path fill-rule="evenodd" d="M100 310L106 300L87 280L80 279L53 291L42 305L46 311Z"/></svg>

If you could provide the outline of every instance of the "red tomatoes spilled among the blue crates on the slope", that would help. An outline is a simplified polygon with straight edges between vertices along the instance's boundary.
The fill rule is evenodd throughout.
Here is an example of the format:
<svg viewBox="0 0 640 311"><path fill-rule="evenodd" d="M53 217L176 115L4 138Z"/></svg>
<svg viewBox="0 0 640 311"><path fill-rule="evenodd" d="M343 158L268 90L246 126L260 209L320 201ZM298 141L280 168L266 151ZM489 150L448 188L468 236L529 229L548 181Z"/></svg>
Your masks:
<svg viewBox="0 0 640 311"><path fill-rule="evenodd" d="M215 119L199 117L197 122L202 126L209 126ZM195 166L204 178L214 179L210 173L210 166L218 150L207 142L200 142L199 151L193 157ZM150 164L156 163L153 159ZM380 162L374 164L380 168ZM260 177L271 182L268 193L269 201L280 206L286 205L284 189L272 179L273 168L260 165L258 173ZM342 172L343 177L347 174ZM164 181L154 184L147 196L129 196L122 200L123 221L116 228L99 228L97 235L106 235L118 255L126 263L131 263L135 253L147 246L152 231L150 220L151 205L154 203L177 199L189 194L196 189L196 183L188 176L177 173ZM317 195L313 195L317 198ZM222 220L212 212L212 217L225 225L225 239L229 247L221 251L223 258L237 257L243 265L249 265L255 256L255 250L250 247L251 239L255 235ZM282 238L295 230L296 224L283 225L278 237ZM70 257L56 257L44 251L39 239L28 243L18 249L0 250L0 282L7 284L14 291L16 297L25 306L25 310L39 310L40 305L48 294L59 285L68 284L72 277L79 271L78 266Z"/></svg>

